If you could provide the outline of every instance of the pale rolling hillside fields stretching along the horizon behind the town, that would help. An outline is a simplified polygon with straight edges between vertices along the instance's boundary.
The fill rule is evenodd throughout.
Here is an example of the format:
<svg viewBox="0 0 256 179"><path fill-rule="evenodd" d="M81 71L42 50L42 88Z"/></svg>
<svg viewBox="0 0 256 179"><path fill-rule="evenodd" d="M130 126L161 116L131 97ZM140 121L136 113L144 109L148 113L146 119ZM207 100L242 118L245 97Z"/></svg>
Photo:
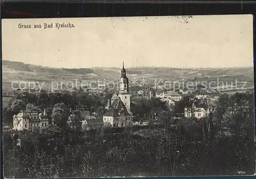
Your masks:
<svg viewBox="0 0 256 179"><path fill-rule="evenodd" d="M10 62L3 60L3 88L41 88L56 89L77 87L82 85L91 85L92 82L108 83L118 82L120 78L121 68L50 68L37 65L24 64L21 62ZM212 89L218 88L218 82L224 82L224 88L220 91L230 91L228 87L230 83L239 82L237 86L242 86L242 82L246 82L244 88L254 88L253 83L253 67L241 68L167 68L167 67L135 67L126 68L126 75L129 78L130 85L134 82L137 84L147 83L155 86L155 82L165 81L187 82L193 83L204 81L206 84L212 83ZM227 83L227 85L226 85ZM236 88L231 91L240 91ZM244 89L243 89L244 90Z"/></svg>

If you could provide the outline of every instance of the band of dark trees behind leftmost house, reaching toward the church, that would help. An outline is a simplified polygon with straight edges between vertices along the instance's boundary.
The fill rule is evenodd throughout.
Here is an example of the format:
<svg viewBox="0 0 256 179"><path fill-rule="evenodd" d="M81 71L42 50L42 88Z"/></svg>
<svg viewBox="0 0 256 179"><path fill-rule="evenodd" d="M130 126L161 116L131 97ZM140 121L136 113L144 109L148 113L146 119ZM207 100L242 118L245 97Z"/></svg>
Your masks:
<svg viewBox="0 0 256 179"><path fill-rule="evenodd" d="M53 111L56 113L56 111L58 111L57 109L62 108L62 111L65 111L65 113L62 113L62 117L67 120L66 116L68 115L70 108L72 110L88 110L90 112L96 112L96 110L101 108L101 100L101 95L84 92L82 90L61 93L48 93L47 91L42 90L39 94L26 91L19 92L16 97L10 99L9 104L3 108L3 122L5 125L12 125L12 117L19 111L42 112L45 108L48 115L52 115Z"/></svg>

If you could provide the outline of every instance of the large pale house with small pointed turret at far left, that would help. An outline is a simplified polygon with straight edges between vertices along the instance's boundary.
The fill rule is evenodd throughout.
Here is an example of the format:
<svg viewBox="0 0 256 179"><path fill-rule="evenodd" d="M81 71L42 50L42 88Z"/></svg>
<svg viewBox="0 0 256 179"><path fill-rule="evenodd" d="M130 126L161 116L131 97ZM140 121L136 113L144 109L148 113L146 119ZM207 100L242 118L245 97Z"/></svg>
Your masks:
<svg viewBox="0 0 256 179"><path fill-rule="evenodd" d="M13 129L22 131L33 129L45 129L49 125L50 116L47 115L46 109L39 113L37 111L21 111L13 116Z"/></svg>

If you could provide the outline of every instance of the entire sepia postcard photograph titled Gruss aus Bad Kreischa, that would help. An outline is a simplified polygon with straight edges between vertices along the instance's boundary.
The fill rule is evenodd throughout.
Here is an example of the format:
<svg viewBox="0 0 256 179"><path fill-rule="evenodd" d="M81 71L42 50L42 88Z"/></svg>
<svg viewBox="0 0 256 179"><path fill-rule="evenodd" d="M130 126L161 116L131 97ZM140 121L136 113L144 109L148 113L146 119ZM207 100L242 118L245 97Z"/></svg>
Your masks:
<svg viewBox="0 0 256 179"><path fill-rule="evenodd" d="M254 175L252 22L2 19L4 177Z"/></svg>

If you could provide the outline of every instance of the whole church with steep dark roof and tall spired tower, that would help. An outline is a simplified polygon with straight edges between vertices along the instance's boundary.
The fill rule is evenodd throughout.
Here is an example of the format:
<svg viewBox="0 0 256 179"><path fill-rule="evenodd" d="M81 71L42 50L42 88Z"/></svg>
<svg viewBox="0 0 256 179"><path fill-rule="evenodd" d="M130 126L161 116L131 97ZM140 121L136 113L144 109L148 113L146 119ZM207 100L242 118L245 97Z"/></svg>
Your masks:
<svg viewBox="0 0 256 179"><path fill-rule="evenodd" d="M108 110L103 114L103 123L109 123L113 127L125 127L133 124L131 103L130 103L130 92L129 92L129 80L126 76L126 70L121 70L121 77L119 82L119 93L107 95L102 104Z"/></svg>

